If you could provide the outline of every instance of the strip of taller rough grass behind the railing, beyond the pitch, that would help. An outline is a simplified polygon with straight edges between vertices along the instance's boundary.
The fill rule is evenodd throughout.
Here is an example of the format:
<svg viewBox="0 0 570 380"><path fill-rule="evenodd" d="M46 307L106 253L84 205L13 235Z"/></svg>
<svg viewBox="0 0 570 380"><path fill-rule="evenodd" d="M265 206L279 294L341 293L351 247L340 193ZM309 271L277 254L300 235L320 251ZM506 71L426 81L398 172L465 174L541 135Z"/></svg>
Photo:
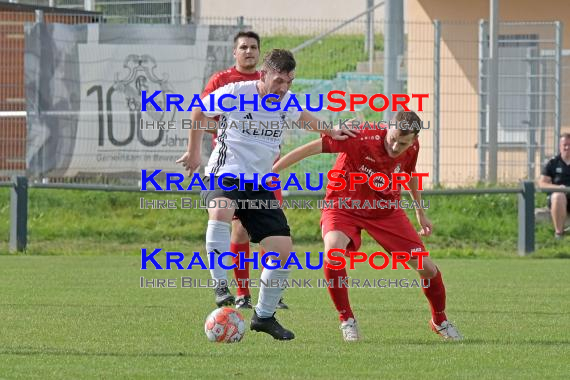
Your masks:
<svg viewBox="0 0 570 380"><path fill-rule="evenodd" d="M178 199L173 193L106 193L31 189L28 255L136 255L141 245L184 252L203 250L203 210L141 210L139 198ZM517 198L510 194L431 196L434 234L425 239L434 257L517 257ZM545 195L536 205L545 204ZM318 198L313 198L314 200ZM0 254L8 250L10 202L0 189ZM322 249L318 210L286 210L295 249ZM412 220L415 222L413 214ZM536 226L533 257L570 257L568 239L555 241L552 225ZM377 250L365 235L364 250ZM372 251L373 252L373 251Z"/></svg>

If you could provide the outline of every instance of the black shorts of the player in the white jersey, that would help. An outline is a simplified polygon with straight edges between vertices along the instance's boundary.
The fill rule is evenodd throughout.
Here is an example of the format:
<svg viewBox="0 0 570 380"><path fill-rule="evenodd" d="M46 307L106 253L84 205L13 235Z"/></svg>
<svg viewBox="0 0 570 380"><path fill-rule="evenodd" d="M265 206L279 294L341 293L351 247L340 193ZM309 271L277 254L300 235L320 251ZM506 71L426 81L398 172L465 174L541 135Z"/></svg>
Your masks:
<svg viewBox="0 0 570 380"><path fill-rule="evenodd" d="M210 188L210 178L205 177L203 179L204 185ZM271 201L276 201L275 192L268 191L259 187L259 190L253 190L253 184L246 183L244 190L239 190L239 180L233 178L224 178L224 186L235 185L237 189L235 190L223 190L218 186L218 179L216 177L216 183L214 185L214 190L203 190L200 195L204 202L208 204L209 201L216 198L228 198L233 201L239 200L249 200L249 201L267 201L269 205ZM275 204L275 202L273 202ZM244 226L245 230L250 236L252 243L259 243L263 239L269 236L291 236L291 230L287 224L287 218L285 213L280 208L262 208L262 204L259 204L259 208L251 207L240 207L241 204L238 202L238 208L236 209L235 216L240 220L241 224Z"/></svg>

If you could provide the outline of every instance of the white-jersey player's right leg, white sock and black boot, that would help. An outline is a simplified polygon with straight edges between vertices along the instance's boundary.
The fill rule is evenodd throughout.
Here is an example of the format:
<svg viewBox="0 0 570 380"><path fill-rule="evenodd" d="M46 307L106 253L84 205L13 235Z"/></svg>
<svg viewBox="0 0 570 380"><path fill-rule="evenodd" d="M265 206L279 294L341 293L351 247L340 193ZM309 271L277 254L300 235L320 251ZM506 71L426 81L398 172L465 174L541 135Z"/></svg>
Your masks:
<svg viewBox="0 0 570 380"><path fill-rule="evenodd" d="M290 236L269 236L261 241L261 246L266 252L276 252L279 256L281 266L287 261L293 243ZM289 331L275 319L277 303L281 299L284 288L271 287L264 284L271 284L272 280L278 282L287 280L291 273L290 269L264 269L261 273L261 288L259 299L255 306L253 318L251 319L251 329L271 335L275 339L290 340L295 338L295 334Z"/></svg>

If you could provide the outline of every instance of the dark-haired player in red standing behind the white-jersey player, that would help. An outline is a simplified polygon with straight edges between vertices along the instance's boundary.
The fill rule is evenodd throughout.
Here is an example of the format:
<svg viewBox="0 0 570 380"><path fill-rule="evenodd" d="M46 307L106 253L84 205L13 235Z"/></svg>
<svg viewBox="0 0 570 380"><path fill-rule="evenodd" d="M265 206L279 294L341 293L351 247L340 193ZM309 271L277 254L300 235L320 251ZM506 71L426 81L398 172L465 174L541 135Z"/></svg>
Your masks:
<svg viewBox="0 0 570 380"><path fill-rule="evenodd" d="M259 35L252 31L239 32L234 37L234 58L235 66L219 71L212 75L208 84L204 88L202 99L214 92L220 87L225 86L229 83L234 82L244 82L250 80L258 80L261 77L261 73L257 71L256 67L259 63L259 49L261 43L259 40ZM212 136L212 146L216 145L217 134L214 133ZM275 192L275 197L282 202L283 197L281 195L281 190ZM249 235L245 228L242 226L238 218L234 217L232 221L232 235L231 235L231 245L230 251L239 255L238 252L243 251L245 256L249 258ZM249 286L247 281L249 281L249 263L245 263L244 269L239 269L239 256L232 259L233 264L236 264L234 268L234 276L238 282L238 289L236 292L235 304L238 309L246 308L251 309L251 294L249 292ZM244 280L244 281L240 281ZM223 302L218 303L218 306L233 305L234 299L227 298ZM288 309L288 306L283 302L283 299L279 300L277 304L278 309Z"/></svg>

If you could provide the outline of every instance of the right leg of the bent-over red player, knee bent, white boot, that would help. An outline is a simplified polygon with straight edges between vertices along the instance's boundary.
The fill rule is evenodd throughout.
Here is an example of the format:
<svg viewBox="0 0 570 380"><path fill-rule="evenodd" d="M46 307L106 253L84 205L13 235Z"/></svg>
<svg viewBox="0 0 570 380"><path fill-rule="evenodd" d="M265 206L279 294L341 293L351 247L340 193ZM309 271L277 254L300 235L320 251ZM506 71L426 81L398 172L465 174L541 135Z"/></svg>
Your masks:
<svg viewBox="0 0 570 380"><path fill-rule="evenodd" d="M408 262L422 278L422 290L428 299L432 318L429 322L431 329L444 339L461 340L463 337L453 323L447 320L445 314L445 286L441 272L435 263L429 258L423 258L423 269L418 269L418 259Z"/></svg>

